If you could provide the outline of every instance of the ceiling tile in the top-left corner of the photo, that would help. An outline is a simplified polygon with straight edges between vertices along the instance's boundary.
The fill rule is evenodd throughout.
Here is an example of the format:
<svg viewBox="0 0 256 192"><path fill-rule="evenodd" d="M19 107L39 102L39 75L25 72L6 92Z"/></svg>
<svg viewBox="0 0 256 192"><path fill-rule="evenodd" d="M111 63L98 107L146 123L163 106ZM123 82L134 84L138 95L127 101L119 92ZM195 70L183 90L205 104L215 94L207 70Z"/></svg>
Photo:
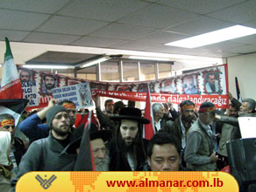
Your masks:
<svg viewBox="0 0 256 192"><path fill-rule="evenodd" d="M0 8L11 10L28 10L32 12L53 14L56 10L59 10L66 3L68 3L68 0L8 0L0 1Z"/></svg>

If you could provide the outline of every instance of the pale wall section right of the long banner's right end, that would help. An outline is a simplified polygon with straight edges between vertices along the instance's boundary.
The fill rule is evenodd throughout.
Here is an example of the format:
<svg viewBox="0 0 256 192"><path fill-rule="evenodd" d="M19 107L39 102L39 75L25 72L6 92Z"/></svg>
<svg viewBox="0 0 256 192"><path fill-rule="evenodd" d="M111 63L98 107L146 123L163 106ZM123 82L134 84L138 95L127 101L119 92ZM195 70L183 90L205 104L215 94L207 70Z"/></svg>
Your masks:
<svg viewBox="0 0 256 192"><path fill-rule="evenodd" d="M256 53L227 58L229 88L237 98L235 77L238 77L242 98L256 99Z"/></svg>

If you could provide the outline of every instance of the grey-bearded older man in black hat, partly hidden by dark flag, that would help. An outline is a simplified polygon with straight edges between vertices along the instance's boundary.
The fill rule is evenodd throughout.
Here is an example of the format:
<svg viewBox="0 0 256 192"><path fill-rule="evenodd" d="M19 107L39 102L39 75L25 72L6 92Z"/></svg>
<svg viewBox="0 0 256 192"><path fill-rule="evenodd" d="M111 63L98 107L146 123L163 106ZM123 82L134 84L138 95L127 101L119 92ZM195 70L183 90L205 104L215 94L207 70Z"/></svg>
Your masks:
<svg viewBox="0 0 256 192"><path fill-rule="evenodd" d="M82 133L84 124L77 127L73 134L69 150L76 150L79 155L80 145L82 141ZM112 133L107 130L98 130L96 124L92 123L89 128L90 146L94 156L96 171L109 171L110 168L110 154L105 143L110 141Z"/></svg>

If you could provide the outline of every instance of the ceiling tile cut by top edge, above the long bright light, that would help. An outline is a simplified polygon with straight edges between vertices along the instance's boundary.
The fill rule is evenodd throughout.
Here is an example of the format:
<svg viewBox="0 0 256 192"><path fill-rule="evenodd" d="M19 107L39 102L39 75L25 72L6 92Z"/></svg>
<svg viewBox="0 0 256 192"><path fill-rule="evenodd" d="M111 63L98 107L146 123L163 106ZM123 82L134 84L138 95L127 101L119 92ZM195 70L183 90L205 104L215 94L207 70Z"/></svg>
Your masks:
<svg viewBox="0 0 256 192"><path fill-rule="evenodd" d="M199 14L205 14L245 1L246 0L160 0L159 3L166 4L174 8L179 8L181 10L188 10Z"/></svg>

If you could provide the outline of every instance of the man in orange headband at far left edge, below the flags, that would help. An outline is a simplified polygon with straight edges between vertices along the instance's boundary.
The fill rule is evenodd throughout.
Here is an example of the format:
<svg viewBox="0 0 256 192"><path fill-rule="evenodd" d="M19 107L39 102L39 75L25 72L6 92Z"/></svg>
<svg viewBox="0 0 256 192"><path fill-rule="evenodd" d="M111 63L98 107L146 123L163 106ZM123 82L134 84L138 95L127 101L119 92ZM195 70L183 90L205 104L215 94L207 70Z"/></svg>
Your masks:
<svg viewBox="0 0 256 192"><path fill-rule="evenodd" d="M0 131L9 132L11 134L11 151L9 151L9 156L13 165L12 171L17 174L18 164L25 154L25 145L21 139L14 136L15 129L14 117L8 113L0 114Z"/></svg>

